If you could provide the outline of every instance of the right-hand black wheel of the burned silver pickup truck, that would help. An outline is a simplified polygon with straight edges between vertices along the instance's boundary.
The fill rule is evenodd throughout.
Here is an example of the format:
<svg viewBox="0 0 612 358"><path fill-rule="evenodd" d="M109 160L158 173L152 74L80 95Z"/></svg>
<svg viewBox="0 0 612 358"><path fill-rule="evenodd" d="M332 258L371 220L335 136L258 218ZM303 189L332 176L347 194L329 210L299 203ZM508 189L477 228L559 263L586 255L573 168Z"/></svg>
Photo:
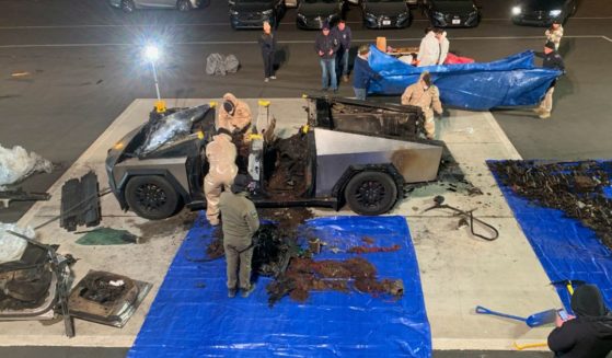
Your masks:
<svg viewBox="0 0 612 358"><path fill-rule="evenodd" d="M361 172L350 178L344 197L353 211L381 215L389 211L397 198L397 186L389 174Z"/></svg>

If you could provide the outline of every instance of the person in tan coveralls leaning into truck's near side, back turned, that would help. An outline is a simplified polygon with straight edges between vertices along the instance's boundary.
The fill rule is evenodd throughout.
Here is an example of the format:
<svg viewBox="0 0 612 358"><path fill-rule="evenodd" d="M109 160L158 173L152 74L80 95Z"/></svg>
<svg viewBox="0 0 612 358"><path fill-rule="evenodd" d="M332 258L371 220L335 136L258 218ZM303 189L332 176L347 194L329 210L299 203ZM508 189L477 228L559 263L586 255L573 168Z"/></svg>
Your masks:
<svg viewBox="0 0 612 358"><path fill-rule="evenodd" d="M236 149L227 128L219 128L212 141L206 145L206 158L208 160L208 174L204 177L206 217L211 226L218 226L221 190L229 190L238 174Z"/></svg>

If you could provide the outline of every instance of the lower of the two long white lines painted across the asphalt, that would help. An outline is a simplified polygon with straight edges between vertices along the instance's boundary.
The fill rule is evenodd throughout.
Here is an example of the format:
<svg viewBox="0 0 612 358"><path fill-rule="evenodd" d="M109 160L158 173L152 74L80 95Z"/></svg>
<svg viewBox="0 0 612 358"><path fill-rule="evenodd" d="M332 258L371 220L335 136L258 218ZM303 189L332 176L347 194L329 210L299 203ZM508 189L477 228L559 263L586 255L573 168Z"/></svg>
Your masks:
<svg viewBox="0 0 612 358"><path fill-rule="evenodd" d="M449 37L452 41L472 41L472 39L539 39L542 36L483 36L483 37ZM612 42L603 35L569 35L564 38L602 38ZM388 42L411 42L420 41L420 37L388 38ZM314 39L287 39L279 41L279 44L312 44ZM371 38L354 38L354 43L372 43ZM173 43L172 45L254 45L256 41L203 41L203 42L184 42ZM35 47L113 47L113 46L136 46L131 43L108 43L108 44L24 44L24 45L0 45L1 48L35 48Z"/></svg>

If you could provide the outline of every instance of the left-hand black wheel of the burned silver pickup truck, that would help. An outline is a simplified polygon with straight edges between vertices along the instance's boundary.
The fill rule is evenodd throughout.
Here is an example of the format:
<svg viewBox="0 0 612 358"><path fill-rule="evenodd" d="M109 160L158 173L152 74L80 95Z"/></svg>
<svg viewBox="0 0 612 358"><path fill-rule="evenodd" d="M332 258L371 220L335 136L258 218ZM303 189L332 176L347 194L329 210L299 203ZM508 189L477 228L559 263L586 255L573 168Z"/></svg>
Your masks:
<svg viewBox="0 0 612 358"><path fill-rule="evenodd" d="M178 210L178 193L170 183L157 175L135 176L126 186L126 201L139 217L161 220Z"/></svg>

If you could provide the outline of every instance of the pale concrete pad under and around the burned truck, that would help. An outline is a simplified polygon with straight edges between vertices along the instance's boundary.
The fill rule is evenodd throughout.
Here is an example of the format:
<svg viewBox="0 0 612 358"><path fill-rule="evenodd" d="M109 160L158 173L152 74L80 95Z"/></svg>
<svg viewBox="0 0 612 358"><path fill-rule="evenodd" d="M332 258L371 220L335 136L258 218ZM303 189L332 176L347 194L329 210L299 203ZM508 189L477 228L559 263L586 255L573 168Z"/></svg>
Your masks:
<svg viewBox="0 0 612 358"><path fill-rule="evenodd" d="M208 103L209 100L171 100L170 106ZM256 100L249 100L256 108ZM305 123L303 100L273 99L272 112L284 135L295 132ZM96 171L101 183L106 182L104 159L106 149L124 134L140 125L152 107L153 100L137 100L104 131L104 134L51 186L53 199L37 203L24 215L21 226L36 226L59 212L60 188L70 177L90 170ZM529 315L559 307L559 301L522 234L511 210L485 165L486 159L519 159L504 131L489 113L451 111L450 117L438 122L439 138L447 142L467 178L483 190L480 196L448 192L443 185L416 189L392 215L406 217L419 261L423 290L436 350L511 350L512 344L545 340L551 327L529 330L520 322L476 315L477 304L499 311ZM101 184L104 186L104 184ZM451 212L423 210L435 195L444 195L447 203L465 208L478 208L476 216L494 224L500 238L486 242L458 229ZM60 244L60 252L81 258L74 266L77 279L89 269L111 270L153 284L128 324L122 328L107 327L86 321L76 321L77 336L63 336L61 322L0 322L0 346L27 345L67 347L129 347L138 334L154 299L165 270L188 227L183 224L190 213L158 222L147 222L131 212L123 212L114 197L102 199L101 226L126 229L142 239L141 244L125 246L82 246L77 236L58 228L57 222L38 230L43 242ZM315 209L317 216L353 215ZM120 263L120 264L119 264ZM220 273L222 274L222 273ZM109 350L109 355L117 350ZM488 357L488 356L483 356ZM492 356L493 357L493 356Z"/></svg>

